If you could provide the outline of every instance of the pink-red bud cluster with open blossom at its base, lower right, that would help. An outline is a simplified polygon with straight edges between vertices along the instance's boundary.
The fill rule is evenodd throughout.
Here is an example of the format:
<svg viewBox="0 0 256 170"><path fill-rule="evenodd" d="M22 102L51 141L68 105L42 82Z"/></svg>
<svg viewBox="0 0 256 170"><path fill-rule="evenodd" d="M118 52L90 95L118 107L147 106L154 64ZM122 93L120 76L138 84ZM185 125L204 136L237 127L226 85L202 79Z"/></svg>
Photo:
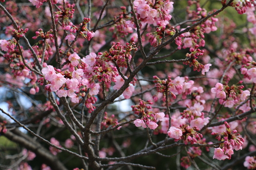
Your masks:
<svg viewBox="0 0 256 170"><path fill-rule="evenodd" d="M231 130L227 122L225 122L226 132L216 133L212 132L212 135L217 135L216 139L223 141L220 144L220 148L215 149L214 158L219 160L230 159L233 154L233 150L241 150L244 139L240 137L237 130Z"/></svg>

